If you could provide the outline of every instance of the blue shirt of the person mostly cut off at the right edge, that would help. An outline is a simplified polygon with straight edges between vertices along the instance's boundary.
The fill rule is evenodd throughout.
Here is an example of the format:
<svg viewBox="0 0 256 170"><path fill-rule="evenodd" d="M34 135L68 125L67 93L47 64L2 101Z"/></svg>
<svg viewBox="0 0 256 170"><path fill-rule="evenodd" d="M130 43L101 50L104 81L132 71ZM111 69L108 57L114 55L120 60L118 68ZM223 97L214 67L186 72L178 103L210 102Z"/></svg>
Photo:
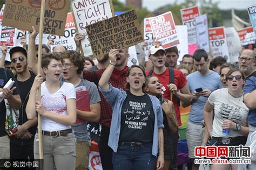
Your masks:
<svg viewBox="0 0 256 170"><path fill-rule="evenodd" d="M251 76L250 78L246 79L246 83L244 87L244 95L247 93L252 93L252 91L255 89L256 89L256 77ZM256 127L256 109L249 110L248 122L251 126Z"/></svg>

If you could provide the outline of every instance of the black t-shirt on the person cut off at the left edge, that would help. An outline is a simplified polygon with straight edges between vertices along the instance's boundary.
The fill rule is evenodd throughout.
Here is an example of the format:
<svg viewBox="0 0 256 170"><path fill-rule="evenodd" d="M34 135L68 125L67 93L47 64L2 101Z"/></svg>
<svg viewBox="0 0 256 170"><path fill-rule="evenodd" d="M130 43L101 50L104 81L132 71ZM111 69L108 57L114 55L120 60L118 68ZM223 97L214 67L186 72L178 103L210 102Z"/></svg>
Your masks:
<svg viewBox="0 0 256 170"><path fill-rule="evenodd" d="M6 70L7 79L6 79L6 76L5 76L5 70ZM12 74L10 69L0 68L0 91L2 91L2 88L9 81L10 78L15 81L15 83L12 87L17 87L14 90L13 95L17 95L17 94L19 94L19 89L18 89L18 86L17 86L17 80L15 79L15 76L14 76L14 74ZM0 103L0 137L6 135L6 132L5 132L5 114L6 114L6 108L5 108L5 104L4 104L4 100L3 100Z"/></svg>

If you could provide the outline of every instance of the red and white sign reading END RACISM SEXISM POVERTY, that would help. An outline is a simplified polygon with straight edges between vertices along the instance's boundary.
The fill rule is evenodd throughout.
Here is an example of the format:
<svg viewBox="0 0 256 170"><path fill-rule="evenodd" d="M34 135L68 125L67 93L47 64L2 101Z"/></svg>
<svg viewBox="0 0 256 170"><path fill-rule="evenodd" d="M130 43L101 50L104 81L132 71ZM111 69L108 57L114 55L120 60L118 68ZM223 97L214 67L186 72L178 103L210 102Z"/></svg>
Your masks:
<svg viewBox="0 0 256 170"><path fill-rule="evenodd" d="M163 13L150 18L151 30L156 41L160 41L164 48L170 48L179 44L172 12Z"/></svg>

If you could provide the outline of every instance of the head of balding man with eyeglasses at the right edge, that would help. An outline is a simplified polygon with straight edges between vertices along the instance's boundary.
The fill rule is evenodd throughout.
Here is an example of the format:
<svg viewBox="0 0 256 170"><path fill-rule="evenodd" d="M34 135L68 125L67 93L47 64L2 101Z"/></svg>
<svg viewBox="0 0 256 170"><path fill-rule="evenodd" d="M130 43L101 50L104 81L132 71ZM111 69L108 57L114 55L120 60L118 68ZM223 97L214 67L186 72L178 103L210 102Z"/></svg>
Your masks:
<svg viewBox="0 0 256 170"><path fill-rule="evenodd" d="M256 76L255 72L255 57L256 52L251 49L245 49L239 56L239 68L244 73L246 79L252 75Z"/></svg>

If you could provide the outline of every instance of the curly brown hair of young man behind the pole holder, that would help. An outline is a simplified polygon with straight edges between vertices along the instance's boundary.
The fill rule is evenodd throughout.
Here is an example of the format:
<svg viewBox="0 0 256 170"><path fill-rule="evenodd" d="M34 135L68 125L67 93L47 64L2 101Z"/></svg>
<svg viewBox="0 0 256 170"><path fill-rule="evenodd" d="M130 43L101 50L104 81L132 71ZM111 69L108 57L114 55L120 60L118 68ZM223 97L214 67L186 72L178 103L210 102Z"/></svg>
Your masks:
<svg viewBox="0 0 256 170"><path fill-rule="evenodd" d="M81 74L83 72L84 57L80 53L73 50L68 50L60 53L60 55L62 55L63 59L69 59L73 63L73 65L78 68L77 74Z"/></svg>

